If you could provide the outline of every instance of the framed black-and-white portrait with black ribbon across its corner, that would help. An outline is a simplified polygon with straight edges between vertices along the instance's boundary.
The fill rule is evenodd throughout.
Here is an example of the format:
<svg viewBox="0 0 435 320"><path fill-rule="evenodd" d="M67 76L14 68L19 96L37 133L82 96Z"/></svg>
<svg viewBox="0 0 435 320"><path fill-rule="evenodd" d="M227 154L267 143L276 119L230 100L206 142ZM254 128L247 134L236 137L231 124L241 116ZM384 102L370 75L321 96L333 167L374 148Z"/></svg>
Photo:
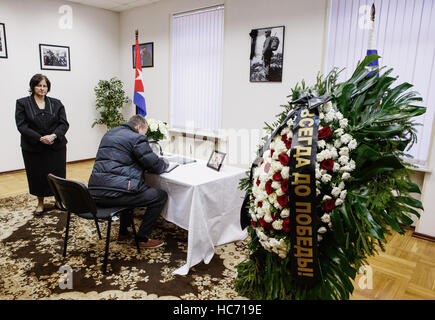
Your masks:
<svg viewBox="0 0 435 320"><path fill-rule="evenodd" d="M284 26L252 29L251 82L282 82Z"/></svg>

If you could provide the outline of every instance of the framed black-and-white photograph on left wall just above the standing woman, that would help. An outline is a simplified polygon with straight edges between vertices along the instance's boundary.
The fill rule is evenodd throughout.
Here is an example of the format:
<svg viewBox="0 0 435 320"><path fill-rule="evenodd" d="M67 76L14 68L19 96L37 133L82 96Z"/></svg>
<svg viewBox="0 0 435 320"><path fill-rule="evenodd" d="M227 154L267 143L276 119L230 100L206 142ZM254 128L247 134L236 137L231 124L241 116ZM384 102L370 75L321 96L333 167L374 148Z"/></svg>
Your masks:
<svg viewBox="0 0 435 320"><path fill-rule="evenodd" d="M39 44L41 70L71 70L69 47Z"/></svg>

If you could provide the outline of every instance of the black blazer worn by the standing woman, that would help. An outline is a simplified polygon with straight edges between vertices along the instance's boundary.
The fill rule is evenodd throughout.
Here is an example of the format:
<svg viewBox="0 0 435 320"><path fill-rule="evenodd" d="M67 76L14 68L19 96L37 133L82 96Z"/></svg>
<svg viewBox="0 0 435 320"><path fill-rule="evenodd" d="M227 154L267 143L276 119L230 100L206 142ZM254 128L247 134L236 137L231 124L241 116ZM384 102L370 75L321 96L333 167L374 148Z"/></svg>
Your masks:
<svg viewBox="0 0 435 320"><path fill-rule="evenodd" d="M67 144L65 134L69 123L65 107L60 100L45 97L45 108L39 109L33 96L17 100L15 122L21 133L21 148L29 152L42 152L47 149L59 150ZM57 138L52 145L39 141L42 136L55 133Z"/></svg>

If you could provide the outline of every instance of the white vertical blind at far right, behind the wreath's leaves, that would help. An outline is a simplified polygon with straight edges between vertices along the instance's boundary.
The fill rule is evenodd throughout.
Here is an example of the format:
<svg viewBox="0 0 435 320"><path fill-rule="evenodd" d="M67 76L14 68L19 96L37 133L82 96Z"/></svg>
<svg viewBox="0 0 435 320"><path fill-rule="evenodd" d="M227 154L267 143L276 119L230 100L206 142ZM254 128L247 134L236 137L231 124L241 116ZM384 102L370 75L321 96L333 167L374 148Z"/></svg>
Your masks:
<svg viewBox="0 0 435 320"><path fill-rule="evenodd" d="M380 66L393 68L396 84L409 82L423 98L426 113L416 122L418 142L409 154L417 165L427 166L435 111L435 1L433 0L330 0L324 74L346 68L348 79L367 50L367 18L375 4L375 35ZM374 49L374 48L370 48Z"/></svg>

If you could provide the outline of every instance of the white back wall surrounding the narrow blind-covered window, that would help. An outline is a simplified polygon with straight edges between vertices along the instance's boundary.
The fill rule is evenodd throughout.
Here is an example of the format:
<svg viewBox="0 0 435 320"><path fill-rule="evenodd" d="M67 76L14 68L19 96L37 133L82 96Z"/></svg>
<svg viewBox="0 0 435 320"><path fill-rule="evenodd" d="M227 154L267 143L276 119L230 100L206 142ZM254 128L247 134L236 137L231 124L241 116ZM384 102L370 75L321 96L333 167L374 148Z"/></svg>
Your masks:
<svg viewBox="0 0 435 320"><path fill-rule="evenodd" d="M290 89L305 79L313 83L323 59L326 0L161 0L121 12L120 77L133 91L131 46L135 29L139 42L154 42L154 68L144 68L148 116L170 117L170 21L171 15L224 4L224 73L222 128L246 132L272 122L287 104ZM281 83L249 82L251 29L285 26L283 79ZM128 114L133 114L131 105ZM253 140L253 139L251 139ZM258 139L248 143L257 145ZM229 148L231 150L240 150ZM233 153L231 153L233 155ZM247 167L240 153L232 165Z"/></svg>

